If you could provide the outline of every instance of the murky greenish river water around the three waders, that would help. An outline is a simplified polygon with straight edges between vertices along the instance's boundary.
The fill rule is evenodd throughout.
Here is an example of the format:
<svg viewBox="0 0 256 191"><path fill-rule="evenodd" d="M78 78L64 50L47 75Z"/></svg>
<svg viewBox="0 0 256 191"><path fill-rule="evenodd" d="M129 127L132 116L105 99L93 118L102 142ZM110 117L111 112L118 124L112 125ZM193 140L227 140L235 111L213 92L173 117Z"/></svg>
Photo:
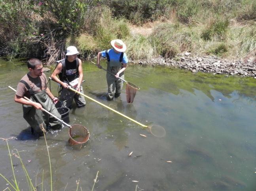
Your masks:
<svg viewBox="0 0 256 191"><path fill-rule="evenodd" d="M28 71L25 60L2 58L0 68L0 137L18 138L8 141L10 152L19 151L38 190L50 190L44 137L30 135L22 106L8 88L16 89ZM67 127L46 134L53 190L91 190L94 183L95 191L256 190L255 79L128 66L125 79L140 87L128 104L125 86L121 97L106 100L104 70L84 62L83 72L85 95L142 124L160 125L166 135L154 137L86 98L85 108L70 109L69 123L86 126L89 142L70 146ZM57 96L55 82L51 90ZM6 141L0 140L0 156L0 173L13 183ZM12 163L20 189L29 190L19 158L13 155ZM0 189L7 187L11 185L0 177Z"/></svg>

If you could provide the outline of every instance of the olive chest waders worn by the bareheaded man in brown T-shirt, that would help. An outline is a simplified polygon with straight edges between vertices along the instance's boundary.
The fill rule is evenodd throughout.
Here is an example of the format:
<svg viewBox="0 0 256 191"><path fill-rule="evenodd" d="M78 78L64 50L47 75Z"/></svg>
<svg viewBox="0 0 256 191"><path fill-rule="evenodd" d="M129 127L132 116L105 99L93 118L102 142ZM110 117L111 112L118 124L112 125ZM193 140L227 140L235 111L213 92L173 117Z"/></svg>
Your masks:
<svg viewBox="0 0 256 191"><path fill-rule="evenodd" d="M21 80L22 83L25 81ZM55 108L53 102L49 98L49 96L46 94L45 90L42 90L38 93L34 93L32 91L31 87L27 84L27 82L24 83L31 95L30 100L40 103L44 109L52 113L58 118L61 118L61 115ZM31 126L32 133L36 134L42 134L42 130L40 129L40 124L43 124L43 127L47 130L47 126L51 126L52 129L59 129L61 128L60 122L49 115L48 113L42 111L41 109L36 109L33 106L23 105L23 117L28 122L28 124Z"/></svg>

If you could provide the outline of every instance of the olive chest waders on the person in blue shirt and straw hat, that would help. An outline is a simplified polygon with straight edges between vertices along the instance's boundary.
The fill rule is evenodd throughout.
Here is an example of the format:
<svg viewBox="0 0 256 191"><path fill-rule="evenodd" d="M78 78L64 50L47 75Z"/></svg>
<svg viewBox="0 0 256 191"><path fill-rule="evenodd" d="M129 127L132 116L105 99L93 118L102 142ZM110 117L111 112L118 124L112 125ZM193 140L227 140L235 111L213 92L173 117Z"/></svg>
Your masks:
<svg viewBox="0 0 256 191"><path fill-rule="evenodd" d="M107 57L107 70L111 72L112 74L117 74L119 70L123 68L123 52L121 53L119 61L110 60L110 57L108 55L108 52L106 50L106 57ZM108 97L110 100L112 100L115 97L119 97L121 95L121 91L123 88L123 81L119 80L112 74L106 73L106 79L108 83ZM121 72L119 74L119 77L124 79L124 72Z"/></svg>

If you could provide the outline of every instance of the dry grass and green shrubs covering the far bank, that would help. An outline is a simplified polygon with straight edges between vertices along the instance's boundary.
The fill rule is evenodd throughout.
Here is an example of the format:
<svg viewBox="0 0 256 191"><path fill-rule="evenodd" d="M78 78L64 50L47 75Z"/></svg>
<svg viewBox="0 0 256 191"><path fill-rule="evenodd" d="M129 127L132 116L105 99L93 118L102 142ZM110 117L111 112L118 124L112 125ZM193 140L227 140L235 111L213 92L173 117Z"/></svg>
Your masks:
<svg viewBox="0 0 256 191"><path fill-rule="evenodd" d="M82 58L123 39L131 59L175 57L189 51L228 58L255 56L256 1L250 0L1 0L0 54L64 57L68 45ZM150 35L131 24L160 21Z"/></svg>

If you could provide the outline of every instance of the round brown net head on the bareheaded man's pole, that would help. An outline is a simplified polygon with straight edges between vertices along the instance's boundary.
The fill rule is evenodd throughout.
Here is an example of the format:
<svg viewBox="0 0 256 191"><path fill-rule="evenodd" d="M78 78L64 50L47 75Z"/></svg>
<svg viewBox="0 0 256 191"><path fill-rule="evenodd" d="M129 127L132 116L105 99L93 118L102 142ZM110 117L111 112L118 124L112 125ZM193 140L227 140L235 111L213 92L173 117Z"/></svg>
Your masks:
<svg viewBox="0 0 256 191"><path fill-rule="evenodd" d="M85 126L74 124L68 131L70 145L79 145L86 143L90 139L90 133ZM76 139L78 138L78 139Z"/></svg>

